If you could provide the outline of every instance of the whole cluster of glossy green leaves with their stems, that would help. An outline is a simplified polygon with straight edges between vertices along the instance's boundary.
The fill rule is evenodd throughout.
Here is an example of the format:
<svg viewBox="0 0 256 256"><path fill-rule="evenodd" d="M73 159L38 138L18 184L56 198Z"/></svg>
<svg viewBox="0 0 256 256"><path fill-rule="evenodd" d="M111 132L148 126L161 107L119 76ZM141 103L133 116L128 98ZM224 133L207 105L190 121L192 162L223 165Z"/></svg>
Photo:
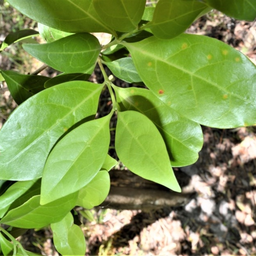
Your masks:
<svg viewBox="0 0 256 256"><path fill-rule="evenodd" d="M1 70L20 105L0 131L0 223L51 226L62 255L84 255L85 241L71 210L101 204L110 188L110 118L117 116L119 160L141 177L180 192L172 167L196 162L201 125L233 128L256 123L256 68L241 52L184 31L216 8L254 20L254 0L8 0L38 22L44 44L23 49L61 72L56 77ZM93 32L112 35L100 45ZM30 29L1 44L33 37ZM96 63L103 84L88 82ZM131 84L113 84L103 64ZM100 94L112 109L97 118ZM4 255L30 255L0 228Z"/></svg>

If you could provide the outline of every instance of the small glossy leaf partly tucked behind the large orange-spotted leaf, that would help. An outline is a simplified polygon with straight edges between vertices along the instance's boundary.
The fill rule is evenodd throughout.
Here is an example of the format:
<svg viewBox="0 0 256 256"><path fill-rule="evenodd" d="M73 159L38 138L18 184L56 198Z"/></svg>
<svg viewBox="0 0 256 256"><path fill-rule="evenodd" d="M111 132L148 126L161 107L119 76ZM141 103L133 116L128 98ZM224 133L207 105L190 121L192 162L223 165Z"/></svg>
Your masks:
<svg viewBox="0 0 256 256"><path fill-rule="evenodd" d="M125 82L133 83L142 81L131 57L103 63L107 65L116 77L124 80Z"/></svg>

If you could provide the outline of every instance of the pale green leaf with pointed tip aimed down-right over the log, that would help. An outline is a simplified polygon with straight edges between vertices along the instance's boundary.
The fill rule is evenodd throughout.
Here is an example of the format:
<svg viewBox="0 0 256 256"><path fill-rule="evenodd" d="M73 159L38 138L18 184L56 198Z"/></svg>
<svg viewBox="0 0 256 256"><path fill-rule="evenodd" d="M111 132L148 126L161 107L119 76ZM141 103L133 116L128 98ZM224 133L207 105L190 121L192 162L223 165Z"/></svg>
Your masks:
<svg viewBox="0 0 256 256"><path fill-rule="evenodd" d="M131 172L181 191L164 140L148 117L136 111L118 111L115 144L117 156Z"/></svg>

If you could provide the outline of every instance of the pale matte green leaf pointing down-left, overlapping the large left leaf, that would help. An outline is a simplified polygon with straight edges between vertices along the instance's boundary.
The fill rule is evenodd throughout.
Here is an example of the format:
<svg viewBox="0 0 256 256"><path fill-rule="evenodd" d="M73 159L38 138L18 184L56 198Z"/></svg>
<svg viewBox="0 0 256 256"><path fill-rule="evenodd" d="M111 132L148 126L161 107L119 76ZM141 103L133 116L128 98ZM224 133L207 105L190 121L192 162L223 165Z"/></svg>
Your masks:
<svg viewBox="0 0 256 256"><path fill-rule="evenodd" d="M100 171L108 154L111 115L81 124L53 148L44 166L41 204L78 191Z"/></svg>

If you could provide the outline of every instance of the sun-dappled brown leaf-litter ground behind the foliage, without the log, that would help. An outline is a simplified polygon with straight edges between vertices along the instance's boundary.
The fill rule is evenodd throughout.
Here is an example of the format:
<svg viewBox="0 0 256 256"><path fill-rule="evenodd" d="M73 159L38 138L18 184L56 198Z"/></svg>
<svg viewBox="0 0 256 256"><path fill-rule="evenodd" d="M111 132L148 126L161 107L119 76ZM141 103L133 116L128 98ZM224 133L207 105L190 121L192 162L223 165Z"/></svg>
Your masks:
<svg viewBox="0 0 256 256"><path fill-rule="evenodd" d="M4 11L0 12L2 41L15 27L4 19L9 9ZM20 22L17 17L12 20L16 25ZM23 28L36 27L22 19ZM217 38L256 63L256 22L211 12L197 20L188 33ZM26 73L25 68L33 72L40 66L26 55L10 60L16 51L11 48L0 55L0 68ZM45 72L54 75L52 70ZM94 74L93 79L101 78ZM108 97L101 102L108 106ZM0 128L15 107L3 83ZM256 255L256 128L202 128L204 146L198 161L178 169L190 177L190 186L196 191L188 203L155 211L108 206L91 210L92 221L83 218L82 226L87 255ZM27 250L58 255L48 228L28 230L19 239Z"/></svg>

